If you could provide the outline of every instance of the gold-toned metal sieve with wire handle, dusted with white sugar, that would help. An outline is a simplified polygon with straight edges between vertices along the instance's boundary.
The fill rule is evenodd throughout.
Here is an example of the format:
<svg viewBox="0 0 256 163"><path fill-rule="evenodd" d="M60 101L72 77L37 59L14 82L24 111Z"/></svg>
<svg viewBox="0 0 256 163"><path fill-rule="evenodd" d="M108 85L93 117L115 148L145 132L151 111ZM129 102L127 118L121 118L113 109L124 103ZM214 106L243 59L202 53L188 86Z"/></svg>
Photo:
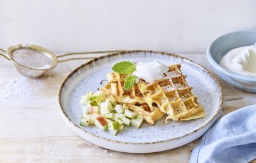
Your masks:
<svg viewBox="0 0 256 163"><path fill-rule="evenodd" d="M90 54L90 53L113 53L124 50L101 51L101 52L79 52L64 53L56 56L50 50L37 45L17 44L10 46L7 52L0 48L0 55L10 60L15 65L17 71L24 76L37 78L57 66L59 62L76 59L93 59L95 57L73 57L70 59L59 60L68 55ZM6 53L6 55L4 55Z"/></svg>

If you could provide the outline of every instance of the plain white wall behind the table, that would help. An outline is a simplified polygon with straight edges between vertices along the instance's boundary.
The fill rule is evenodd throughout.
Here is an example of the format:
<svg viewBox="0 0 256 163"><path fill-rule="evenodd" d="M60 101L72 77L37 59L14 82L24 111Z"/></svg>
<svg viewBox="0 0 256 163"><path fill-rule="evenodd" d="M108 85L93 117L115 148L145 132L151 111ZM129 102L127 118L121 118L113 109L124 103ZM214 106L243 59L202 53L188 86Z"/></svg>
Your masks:
<svg viewBox="0 0 256 163"><path fill-rule="evenodd" d="M244 29L256 29L256 1L0 0L1 48L204 53L216 37Z"/></svg>

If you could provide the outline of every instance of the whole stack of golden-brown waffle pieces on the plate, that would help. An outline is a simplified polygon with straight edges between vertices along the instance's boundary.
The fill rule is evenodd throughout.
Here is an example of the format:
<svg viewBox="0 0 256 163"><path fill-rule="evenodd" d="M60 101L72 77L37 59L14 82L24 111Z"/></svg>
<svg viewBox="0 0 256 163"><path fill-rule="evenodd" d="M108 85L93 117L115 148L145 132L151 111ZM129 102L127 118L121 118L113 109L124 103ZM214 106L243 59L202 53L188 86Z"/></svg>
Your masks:
<svg viewBox="0 0 256 163"><path fill-rule="evenodd" d="M138 81L130 90L124 90L127 75L108 73L108 84L100 90L113 95L118 103L124 103L129 109L142 115L152 125L168 115L173 121L192 120L205 117L205 111L191 93L186 76L180 71L180 64L169 66L164 78L152 83Z"/></svg>

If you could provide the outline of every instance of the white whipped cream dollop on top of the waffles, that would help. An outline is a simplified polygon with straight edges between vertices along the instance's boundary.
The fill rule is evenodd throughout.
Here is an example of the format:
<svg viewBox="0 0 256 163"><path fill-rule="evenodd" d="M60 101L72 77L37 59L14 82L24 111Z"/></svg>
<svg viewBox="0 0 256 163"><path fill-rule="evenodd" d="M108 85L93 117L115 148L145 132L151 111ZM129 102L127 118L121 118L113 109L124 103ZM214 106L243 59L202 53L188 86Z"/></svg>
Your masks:
<svg viewBox="0 0 256 163"><path fill-rule="evenodd" d="M152 83L155 80L164 78L164 73L168 70L168 66L159 64L159 62L154 60L153 62L138 62L136 71L133 74L148 83Z"/></svg>

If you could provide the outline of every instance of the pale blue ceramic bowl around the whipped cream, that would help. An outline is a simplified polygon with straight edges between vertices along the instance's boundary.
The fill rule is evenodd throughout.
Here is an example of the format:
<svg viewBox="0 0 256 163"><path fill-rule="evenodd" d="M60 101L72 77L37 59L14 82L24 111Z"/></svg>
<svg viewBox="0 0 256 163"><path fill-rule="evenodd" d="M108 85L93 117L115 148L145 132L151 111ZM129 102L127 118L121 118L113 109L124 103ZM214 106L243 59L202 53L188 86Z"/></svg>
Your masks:
<svg viewBox="0 0 256 163"><path fill-rule="evenodd" d="M212 69L221 79L230 83L237 89L246 92L256 92L256 77L244 76L242 74L233 73L220 66L221 58L233 48L239 46L254 45L256 43L256 31L237 31L220 36L215 39L209 48L206 55ZM256 64L256 63L255 63Z"/></svg>

